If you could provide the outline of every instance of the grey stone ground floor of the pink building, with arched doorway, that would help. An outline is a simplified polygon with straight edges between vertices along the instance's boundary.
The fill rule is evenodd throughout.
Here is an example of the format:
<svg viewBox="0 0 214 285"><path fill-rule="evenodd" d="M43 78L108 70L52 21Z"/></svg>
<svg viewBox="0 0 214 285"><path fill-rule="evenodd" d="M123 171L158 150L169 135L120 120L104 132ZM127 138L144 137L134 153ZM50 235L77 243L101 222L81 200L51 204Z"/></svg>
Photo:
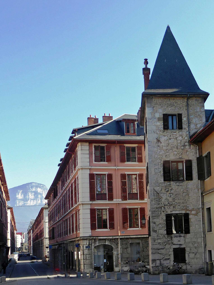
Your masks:
<svg viewBox="0 0 214 285"><path fill-rule="evenodd" d="M148 237L86 237L50 246L50 262L64 271L128 271L136 262L149 265Z"/></svg>

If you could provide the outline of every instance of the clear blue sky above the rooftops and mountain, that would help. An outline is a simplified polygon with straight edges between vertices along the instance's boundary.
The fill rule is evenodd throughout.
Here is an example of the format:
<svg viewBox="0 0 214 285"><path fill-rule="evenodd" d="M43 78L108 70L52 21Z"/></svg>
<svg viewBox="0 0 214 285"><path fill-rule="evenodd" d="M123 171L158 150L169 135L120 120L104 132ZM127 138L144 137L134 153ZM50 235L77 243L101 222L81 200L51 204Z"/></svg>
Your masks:
<svg viewBox="0 0 214 285"><path fill-rule="evenodd" d="M9 188L50 187L74 127L137 113L167 25L214 108L213 1L2 0L0 151ZM12 205L13 206L13 205Z"/></svg>

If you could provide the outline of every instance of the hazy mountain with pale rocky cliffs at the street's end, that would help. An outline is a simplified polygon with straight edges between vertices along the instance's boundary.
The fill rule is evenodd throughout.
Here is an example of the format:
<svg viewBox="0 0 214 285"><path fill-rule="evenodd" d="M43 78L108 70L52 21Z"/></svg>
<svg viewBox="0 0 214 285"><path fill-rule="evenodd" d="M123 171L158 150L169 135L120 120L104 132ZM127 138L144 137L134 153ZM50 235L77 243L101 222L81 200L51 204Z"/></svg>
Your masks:
<svg viewBox="0 0 214 285"><path fill-rule="evenodd" d="M10 201L8 204L13 207L18 232L27 232L30 220L36 218L42 205L46 202L47 190L45 185L35 182L9 189Z"/></svg>

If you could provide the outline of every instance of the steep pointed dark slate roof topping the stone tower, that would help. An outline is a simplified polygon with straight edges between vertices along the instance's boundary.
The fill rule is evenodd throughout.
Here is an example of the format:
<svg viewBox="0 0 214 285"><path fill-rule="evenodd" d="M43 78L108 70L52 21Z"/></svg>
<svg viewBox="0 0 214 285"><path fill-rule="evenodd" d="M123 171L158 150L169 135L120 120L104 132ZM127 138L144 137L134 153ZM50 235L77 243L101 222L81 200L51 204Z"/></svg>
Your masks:
<svg viewBox="0 0 214 285"><path fill-rule="evenodd" d="M143 93L208 95L198 87L169 25L164 34L148 88Z"/></svg>

